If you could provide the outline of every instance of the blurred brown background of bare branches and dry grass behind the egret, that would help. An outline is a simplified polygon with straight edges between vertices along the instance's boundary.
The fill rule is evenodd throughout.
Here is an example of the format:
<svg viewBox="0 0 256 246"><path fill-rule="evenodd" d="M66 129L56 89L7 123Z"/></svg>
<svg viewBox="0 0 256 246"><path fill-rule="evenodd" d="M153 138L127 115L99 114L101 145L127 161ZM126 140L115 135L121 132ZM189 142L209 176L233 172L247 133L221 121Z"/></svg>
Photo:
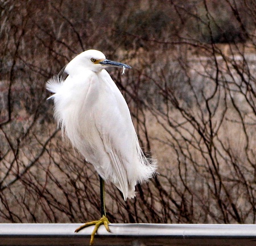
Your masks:
<svg viewBox="0 0 256 246"><path fill-rule="evenodd" d="M0 1L0 221L100 218L92 165L62 139L47 80L99 49L158 176L112 223L255 223L256 3L252 0Z"/></svg>

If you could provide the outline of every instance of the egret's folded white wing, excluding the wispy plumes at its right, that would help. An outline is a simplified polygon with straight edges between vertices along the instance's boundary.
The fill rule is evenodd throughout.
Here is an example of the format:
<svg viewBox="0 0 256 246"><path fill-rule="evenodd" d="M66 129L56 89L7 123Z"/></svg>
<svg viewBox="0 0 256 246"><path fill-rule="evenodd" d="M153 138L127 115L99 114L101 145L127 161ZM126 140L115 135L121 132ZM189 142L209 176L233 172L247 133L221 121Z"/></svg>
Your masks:
<svg viewBox="0 0 256 246"><path fill-rule="evenodd" d="M95 109L95 122L104 151L110 159L108 165L102 163L102 166L105 166L105 177L122 191L126 199L135 195L136 181L131 177L131 169L138 164L133 161L137 136L127 103L112 78L102 70L99 80L104 83Z"/></svg>

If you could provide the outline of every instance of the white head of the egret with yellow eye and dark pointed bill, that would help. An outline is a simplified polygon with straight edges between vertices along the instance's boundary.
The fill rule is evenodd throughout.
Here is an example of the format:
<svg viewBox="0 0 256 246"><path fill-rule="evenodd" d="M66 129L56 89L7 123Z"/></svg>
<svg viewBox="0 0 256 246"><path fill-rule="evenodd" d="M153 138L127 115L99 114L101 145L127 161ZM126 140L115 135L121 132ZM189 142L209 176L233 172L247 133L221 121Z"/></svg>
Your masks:
<svg viewBox="0 0 256 246"><path fill-rule="evenodd" d="M68 74L77 73L82 70L92 70L93 72L100 72L102 69L108 66L118 66L122 68L131 68L131 66L123 64L117 61L110 61L106 59L104 53L96 51L96 49L88 49L77 55L71 60L66 68L65 72Z"/></svg>

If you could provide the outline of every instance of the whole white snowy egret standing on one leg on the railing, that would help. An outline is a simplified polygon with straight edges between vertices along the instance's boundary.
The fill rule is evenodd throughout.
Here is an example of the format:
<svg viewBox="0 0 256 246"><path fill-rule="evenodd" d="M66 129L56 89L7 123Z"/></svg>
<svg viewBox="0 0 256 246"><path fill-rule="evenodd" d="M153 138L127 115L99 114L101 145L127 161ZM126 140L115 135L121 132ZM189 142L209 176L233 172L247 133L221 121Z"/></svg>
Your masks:
<svg viewBox="0 0 256 246"><path fill-rule="evenodd" d="M102 218L76 230L95 224L90 244L100 224L109 231L104 181L113 182L126 201L134 198L135 185L154 176L156 169L155 162L146 158L139 146L127 103L104 69L108 66L122 67L123 72L131 68L89 49L71 60L46 85L54 93L50 98L54 100L58 125L100 176Z"/></svg>

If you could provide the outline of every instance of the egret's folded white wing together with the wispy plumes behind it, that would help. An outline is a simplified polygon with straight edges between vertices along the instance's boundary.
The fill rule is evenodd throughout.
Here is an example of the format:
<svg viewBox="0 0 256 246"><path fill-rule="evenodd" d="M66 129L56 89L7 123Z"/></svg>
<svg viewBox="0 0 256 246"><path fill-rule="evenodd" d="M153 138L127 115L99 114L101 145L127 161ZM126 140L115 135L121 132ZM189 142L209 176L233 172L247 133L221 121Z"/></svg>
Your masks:
<svg viewBox="0 0 256 246"><path fill-rule="evenodd" d="M105 151L108 153L114 172L115 186L123 192L123 196L131 198L135 196L135 185L143 182L155 174L156 162L147 159L139 146L137 134L130 115L129 107L115 85L108 72L102 70L105 91L100 96L100 105L103 105L98 116L102 117L102 124L97 125ZM102 101L101 101L102 100Z"/></svg>

